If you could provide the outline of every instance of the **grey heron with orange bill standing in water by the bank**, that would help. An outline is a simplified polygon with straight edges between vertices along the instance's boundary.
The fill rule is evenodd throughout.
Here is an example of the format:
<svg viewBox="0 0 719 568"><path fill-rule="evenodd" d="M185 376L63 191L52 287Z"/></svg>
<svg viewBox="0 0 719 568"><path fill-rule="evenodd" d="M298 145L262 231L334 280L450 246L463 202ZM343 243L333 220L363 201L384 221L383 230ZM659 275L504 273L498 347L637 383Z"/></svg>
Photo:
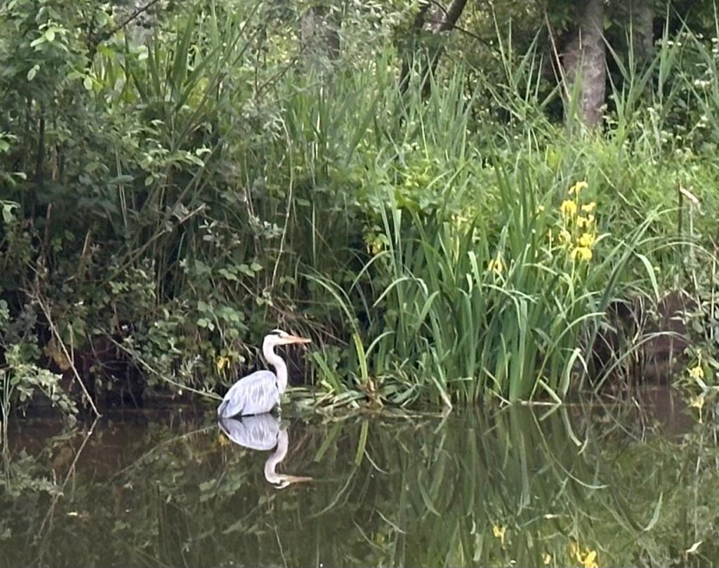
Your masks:
<svg viewBox="0 0 719 568"><path fill-rule="evenodd" d="M242 377L234 383L224 395L217 416L249 416L270 412L280 403L280 395L287 388L287 365L282 357L275 353L278 345L309 343L310 339L290 335L281 329L273 329L262 341L262 354L267 362L275 367L275 372L262 370Z"/></svg>

